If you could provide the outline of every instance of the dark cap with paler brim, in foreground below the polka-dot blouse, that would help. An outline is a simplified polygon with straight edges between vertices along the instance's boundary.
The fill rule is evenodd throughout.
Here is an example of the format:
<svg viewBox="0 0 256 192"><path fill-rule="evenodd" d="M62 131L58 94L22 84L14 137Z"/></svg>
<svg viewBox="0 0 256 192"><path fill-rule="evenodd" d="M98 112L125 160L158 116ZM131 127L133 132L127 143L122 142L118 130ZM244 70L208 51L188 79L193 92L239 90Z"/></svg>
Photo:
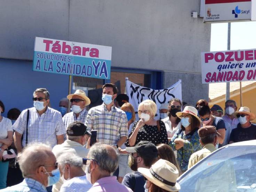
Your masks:
<svg viewBox="0 0 256 192"><path fill-rule="evenodd" d="M139 153L142 158L156 158L158 156L157 147L149 141L140 141L134 147L126 147L128 153Z"/></svg>

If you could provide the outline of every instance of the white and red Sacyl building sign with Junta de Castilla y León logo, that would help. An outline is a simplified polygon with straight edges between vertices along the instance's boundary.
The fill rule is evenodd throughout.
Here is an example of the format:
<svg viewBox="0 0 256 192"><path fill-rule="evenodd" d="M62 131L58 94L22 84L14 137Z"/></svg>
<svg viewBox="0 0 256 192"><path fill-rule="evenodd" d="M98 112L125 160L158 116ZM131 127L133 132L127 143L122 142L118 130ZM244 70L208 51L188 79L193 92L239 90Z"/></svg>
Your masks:
<svg viewBox="0 0 256 192"><path fill-rule="evenodd" d="M204 22L255 21L255 0L205 0Z"/></svg>

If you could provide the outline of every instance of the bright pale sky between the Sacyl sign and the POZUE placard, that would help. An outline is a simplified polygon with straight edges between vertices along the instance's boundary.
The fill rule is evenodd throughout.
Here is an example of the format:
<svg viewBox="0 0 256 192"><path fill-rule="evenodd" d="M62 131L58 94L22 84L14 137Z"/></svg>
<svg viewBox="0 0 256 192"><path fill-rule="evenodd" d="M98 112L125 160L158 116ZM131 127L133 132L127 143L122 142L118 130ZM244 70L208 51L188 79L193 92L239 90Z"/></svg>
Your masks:
<svg viewBox="0 0 256 192"><path fill-rule="evenodd" d="M256 48L256 22L231 23L231 50ZM227 50L227 23L211 24L211 51Z"/></svg>

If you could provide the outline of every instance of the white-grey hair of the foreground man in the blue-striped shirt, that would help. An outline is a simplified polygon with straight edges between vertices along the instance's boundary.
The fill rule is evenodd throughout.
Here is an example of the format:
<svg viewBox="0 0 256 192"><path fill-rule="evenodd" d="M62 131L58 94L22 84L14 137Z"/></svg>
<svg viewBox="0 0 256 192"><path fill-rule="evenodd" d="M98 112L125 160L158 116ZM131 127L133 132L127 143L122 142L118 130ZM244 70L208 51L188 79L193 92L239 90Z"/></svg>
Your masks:
<svg viewBox="0 0 256 192"><path fill-rule="evenodd" d="M66 164L74 166L74 167L82 167L83 166L82 158L79 157L76 153L72 153L72 152L62 153L57 158L57 162L58 162L58 165L61 167L61 169L63 169Z"/></svg>

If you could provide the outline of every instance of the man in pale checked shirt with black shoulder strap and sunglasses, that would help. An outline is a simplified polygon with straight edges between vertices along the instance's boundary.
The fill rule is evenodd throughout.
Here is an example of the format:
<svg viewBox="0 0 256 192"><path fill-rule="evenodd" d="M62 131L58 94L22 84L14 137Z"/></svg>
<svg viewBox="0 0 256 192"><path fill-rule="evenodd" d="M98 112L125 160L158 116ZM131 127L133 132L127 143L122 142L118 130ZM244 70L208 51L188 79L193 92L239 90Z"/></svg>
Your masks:
<svg viewBox="0 0 256 192"><path fill-rule="evenodd" d="M25 109L19 115L12 128L15 131L14 143L18 152L26 146L26 126L27 144L40 142L54 147L64 142L66 133L62 115L57 110L48 106L50 94L45 88L36 89L33 93L34 107ZM29 110L29 120L27 123L27 112ZM23 140L21 139L23 135Z"/></svg>

